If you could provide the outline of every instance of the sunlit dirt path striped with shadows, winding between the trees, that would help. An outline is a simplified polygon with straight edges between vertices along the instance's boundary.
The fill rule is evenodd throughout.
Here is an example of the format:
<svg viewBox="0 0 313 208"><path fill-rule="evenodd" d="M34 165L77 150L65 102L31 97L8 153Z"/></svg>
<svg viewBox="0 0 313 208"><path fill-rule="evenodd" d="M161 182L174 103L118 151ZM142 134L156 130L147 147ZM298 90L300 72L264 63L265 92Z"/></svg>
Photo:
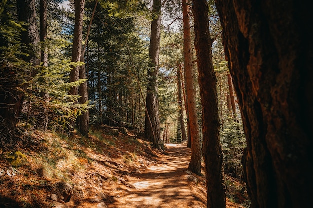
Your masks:
<svg viewBox="0 0 313 208"><path fill-rule="evenodd" d="M168 155L157 163L127 178L135 188L120 187L109 208L204 208L206 190L204 177L198 183L186 173L191 149L184 144L165 144ZM116 196L116 195L115 195Z"/></svg>

